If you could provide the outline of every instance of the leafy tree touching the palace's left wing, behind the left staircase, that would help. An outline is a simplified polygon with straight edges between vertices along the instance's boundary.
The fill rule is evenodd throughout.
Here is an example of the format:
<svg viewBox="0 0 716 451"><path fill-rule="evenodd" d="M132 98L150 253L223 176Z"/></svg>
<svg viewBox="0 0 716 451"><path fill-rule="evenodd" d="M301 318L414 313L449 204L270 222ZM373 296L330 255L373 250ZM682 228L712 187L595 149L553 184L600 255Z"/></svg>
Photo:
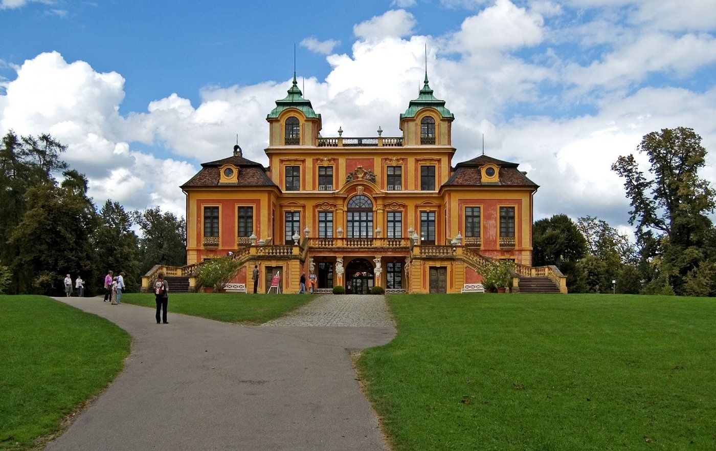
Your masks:
<svg viewBox="0 0 716 451"><path fill-rule="evenodd" d="M159 207L134 212L142 229L140 238L140 275L154 265L186 265L186 220Z"/></svg>

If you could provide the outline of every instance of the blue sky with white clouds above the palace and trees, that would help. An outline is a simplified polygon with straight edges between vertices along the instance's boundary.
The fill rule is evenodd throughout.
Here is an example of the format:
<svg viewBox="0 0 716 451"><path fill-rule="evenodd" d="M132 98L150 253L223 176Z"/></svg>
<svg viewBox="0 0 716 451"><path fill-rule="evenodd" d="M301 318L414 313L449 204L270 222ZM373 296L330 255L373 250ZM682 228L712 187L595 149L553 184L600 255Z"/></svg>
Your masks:
<svg viewBox="0 0 716 451"><path fill-rule="evenodd" d="M237 139L268 164L294 65L324 137L401 136L427 65L453 166L484 136L540 185L535 219L629 229L611 164L646 171L637 146L662 128L702 136L716 185L713 0L0 0L0 28L0 133L67 145L98 206L184 216L179 186Z"/></svg>

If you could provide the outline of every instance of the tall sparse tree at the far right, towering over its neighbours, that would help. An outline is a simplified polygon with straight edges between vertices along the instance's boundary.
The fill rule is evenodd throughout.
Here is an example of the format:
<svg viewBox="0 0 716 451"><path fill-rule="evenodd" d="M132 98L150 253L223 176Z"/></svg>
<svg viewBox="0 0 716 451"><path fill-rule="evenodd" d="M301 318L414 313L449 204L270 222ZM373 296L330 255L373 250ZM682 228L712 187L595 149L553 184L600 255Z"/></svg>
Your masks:
<svg viewBox="0 0 716 451"><path fill-rule="evenodd" d="M706 149L694 130L679 127L647 134L637 150L649 157L648 178L633 155L619 156L611 166L625 180L632 206L629 224L637 226L642 258L660 257L659 273L674 293L686 294L685 277L699 272L716 253L708 239L712 222L707 216L714 211L716 196L708 181L698 176ZM699 250L707 252L699 255Z"/></svg>

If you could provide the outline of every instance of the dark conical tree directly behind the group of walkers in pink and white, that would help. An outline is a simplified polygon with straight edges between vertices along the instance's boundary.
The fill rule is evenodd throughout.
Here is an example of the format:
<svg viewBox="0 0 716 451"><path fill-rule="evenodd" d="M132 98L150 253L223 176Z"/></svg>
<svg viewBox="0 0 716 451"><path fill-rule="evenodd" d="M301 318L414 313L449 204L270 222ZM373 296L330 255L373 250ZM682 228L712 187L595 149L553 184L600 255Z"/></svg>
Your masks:
<svg viewBox="0 0 716 451"><path fill-rule="evenodd" d="M108 199L100 209L100 226L93 240L99 257L96 277L103 277L108 270L115 274L124 271L127 292L138 291L142 274L139 262L139 238L132 227L135 216L125 212L123 206Z"/></svg>

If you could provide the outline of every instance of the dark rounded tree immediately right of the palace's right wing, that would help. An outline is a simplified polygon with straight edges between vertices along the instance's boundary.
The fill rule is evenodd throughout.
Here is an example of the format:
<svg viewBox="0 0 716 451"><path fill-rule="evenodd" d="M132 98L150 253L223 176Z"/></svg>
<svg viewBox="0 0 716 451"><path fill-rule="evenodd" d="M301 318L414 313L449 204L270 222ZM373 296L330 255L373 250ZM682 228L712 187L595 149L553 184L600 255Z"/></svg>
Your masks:
<svg viewBox="0 0 716 451"><path fill-rule="evenodd" d="M580 268L576 262L586 255L586 239L566 214L540 219L532 228L532 264L555 265L567 276L567 290L579 293Z"/></svg>

